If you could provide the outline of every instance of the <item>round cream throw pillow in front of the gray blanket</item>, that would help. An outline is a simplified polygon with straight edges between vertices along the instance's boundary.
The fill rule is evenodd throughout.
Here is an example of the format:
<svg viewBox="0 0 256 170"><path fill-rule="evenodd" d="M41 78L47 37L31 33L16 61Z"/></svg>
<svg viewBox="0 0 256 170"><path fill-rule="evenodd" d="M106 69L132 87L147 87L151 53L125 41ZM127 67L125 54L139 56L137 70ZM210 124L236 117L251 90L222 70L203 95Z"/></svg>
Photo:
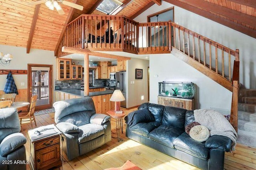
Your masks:
<svg viewBox="0 0 256 170"><path fill-rule="evenodd" d="M198 142L206 141L210 136L210 131L203 125L197 125L190 129L190 137Z"/></svg>

